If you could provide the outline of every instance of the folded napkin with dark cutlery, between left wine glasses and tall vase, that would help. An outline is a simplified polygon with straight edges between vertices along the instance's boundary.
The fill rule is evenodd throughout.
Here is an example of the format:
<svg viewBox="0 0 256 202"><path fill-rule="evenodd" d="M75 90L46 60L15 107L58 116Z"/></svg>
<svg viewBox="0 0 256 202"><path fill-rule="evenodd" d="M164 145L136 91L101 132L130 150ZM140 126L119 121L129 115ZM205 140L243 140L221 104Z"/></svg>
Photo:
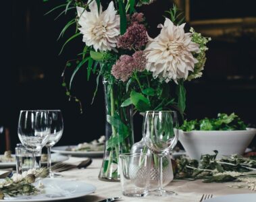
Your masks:
<svg viewBox="0 0 256 202"><path fill-rule="evenodd" d="M74 168L86 168L89 166L93 160L91 158L75 158L72 157L69 160L66 160L65 162L61 162L61 164L55 164L53 166L54 172L62 172Z"/></svg>

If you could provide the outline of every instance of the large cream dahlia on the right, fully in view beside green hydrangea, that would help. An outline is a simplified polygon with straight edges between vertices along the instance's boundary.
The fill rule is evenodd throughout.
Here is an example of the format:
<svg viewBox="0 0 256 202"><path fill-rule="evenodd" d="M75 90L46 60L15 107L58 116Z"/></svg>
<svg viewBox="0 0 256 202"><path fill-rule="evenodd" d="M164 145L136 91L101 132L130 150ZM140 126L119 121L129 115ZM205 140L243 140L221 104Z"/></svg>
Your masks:
<svg viewBox="0 0 256 202"><path fill-rule="evenodd" d="M146 69L153 72L153 77L160 77L166 82L173 79L186 79L188 71L193 71L197 59L193 53L199 53L199 44L191 41L191 33L184 32L185 24L174 26L165 18L160 24L160 34L149 38L145 48L147 58Z"/></svg>

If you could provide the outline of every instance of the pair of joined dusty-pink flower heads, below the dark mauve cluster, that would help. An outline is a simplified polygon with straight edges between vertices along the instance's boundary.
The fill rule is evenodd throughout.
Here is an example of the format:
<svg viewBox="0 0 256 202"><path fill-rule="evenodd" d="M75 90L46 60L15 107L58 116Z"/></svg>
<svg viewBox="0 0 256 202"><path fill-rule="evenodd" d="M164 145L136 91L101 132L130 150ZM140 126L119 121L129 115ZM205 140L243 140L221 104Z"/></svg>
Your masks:
<svg viewBox="0 0 256 202"><path fill-rule="evenodd" d="M147 59L143 51L137 51L134 55L122 55L116 64L111 69L111 74L120 79L121 81L127 81L132 75L133 71L144 71L146 67Z"/></svg>

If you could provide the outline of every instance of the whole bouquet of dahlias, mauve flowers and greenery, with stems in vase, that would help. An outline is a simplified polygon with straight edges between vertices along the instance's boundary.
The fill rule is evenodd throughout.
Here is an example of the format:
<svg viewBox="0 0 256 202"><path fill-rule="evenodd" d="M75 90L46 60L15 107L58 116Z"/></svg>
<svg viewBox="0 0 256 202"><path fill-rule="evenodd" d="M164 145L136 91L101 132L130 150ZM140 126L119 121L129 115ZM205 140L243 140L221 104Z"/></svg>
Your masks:
<svg viewBox="0 0 256 202"><path fill-rule="evenodd" d="M47 0L45 0L47 1ZM201 77L205 65L205 51L210 38L205 38L191 28L185 32L184 18L176 5L166 11L159 35L151 38L147 32L147 19L136 7L153 3L153 0L115 0L106 8L105 1L68 0L53 8L63 7L62 13L73 10L76 17L61 31L60 36L72 25L76 32L68 42L82 36L84 50L76 63L67 86L65 71L63 86L72 96L70 88L78 70L85 66L87 78L91 73L103 77L105 85L106 113L111 131L106 141L107 159L103 161L103 173L107 178L118 176L118 154L129 152L133 143L132 115L146 110L177 110L184 113L186 90L184 81ZM48 13L50 13L49 11ZM61 51L63 48L61 48ZM68 61L66 67L72 65ZM95 94L97 88L95 90ZM94 98L94 97L93 97Z"/></svg>

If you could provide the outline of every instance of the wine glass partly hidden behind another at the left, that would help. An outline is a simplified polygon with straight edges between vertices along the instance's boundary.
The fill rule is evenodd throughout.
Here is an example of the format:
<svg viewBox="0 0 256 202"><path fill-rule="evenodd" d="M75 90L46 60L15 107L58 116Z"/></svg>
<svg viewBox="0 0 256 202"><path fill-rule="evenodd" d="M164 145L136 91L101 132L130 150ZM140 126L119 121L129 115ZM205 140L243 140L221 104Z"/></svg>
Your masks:
<svg viewBox="0 0 256 202"><path fill-rule="evenodd" d="M63 133L63 118L61 110L48 110L49 113L49 140L45 147L47 147L47 167L49 168L49 176L54 178L57 174L54 174L51 170L51 147L55 145L61 139Z"/></svg>

